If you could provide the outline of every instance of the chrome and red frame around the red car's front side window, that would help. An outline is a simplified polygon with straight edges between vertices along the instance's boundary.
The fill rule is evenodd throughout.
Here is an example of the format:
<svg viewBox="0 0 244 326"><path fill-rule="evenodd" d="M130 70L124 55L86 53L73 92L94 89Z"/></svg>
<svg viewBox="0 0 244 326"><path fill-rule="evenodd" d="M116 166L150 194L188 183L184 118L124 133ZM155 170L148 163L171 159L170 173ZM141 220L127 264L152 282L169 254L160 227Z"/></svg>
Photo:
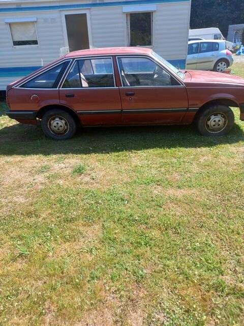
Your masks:
<svg viewBox="0 0 244 326"><path fill-rule="evenodd" d="M119 69L119 63L118 63L118 59L119 58L146 58L149 59L151 61L153 61L155 64L159 65L161 68L163 68L172 78L176 79L176 81L179 83L179 85L148 85L148 86L123 86L123 80L121 78L121 73L120 73L120 69ZM121 84L121 88L165 88L165 87L185 87L185 84L179 80L178 78L176 78L171 71L169 71L169 69L167 69L167 67L165 67L164 65L162 65L161 63L159 63L158 61L154 60L154 58L150 57L150 56L140 56L140 55L127 55L127 56L116 56L116 63L117 63L117 68L118 68L118 74L119 74L119 79L120 79L120 84ZM119 87L119 88L120 88Z"/></svg>

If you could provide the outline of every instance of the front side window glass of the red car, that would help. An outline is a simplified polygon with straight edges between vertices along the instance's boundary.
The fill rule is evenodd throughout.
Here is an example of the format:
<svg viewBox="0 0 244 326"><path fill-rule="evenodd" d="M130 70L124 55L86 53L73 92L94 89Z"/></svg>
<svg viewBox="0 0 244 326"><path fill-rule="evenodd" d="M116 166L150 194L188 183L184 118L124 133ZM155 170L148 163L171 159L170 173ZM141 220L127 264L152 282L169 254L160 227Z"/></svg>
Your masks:
<svg viewBox="0 0 244 326"><path fill-rule="evenodd" d="M118 58L118 66L124 87L170 86L177 83L166 70L147 58Z"/></svg>

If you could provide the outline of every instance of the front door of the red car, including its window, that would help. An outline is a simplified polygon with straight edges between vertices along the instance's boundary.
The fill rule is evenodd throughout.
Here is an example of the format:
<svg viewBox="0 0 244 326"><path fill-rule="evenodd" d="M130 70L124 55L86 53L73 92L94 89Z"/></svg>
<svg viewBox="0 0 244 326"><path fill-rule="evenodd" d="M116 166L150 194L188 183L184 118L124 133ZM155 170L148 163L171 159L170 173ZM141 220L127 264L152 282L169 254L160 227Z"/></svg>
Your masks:
<svg viewBox="0 0 244 326"><path fill-rule="evenodd" d="M188 109L185 86L149 57L118 57L125 124L178 123Z"/></svg>

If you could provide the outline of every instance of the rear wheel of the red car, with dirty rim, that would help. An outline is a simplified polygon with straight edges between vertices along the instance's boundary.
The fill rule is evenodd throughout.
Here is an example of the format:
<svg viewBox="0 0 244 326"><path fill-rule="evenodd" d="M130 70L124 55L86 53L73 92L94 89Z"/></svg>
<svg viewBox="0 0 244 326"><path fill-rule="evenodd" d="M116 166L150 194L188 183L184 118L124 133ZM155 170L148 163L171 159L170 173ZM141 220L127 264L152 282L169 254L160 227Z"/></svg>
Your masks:
<svg viewBox="0 0 244 326"><path fill-rule="evenodd" d="M75 119L58 109L47 111L42 117L41 125L45 135L55 140L70 139L77 130Z"/></svg>

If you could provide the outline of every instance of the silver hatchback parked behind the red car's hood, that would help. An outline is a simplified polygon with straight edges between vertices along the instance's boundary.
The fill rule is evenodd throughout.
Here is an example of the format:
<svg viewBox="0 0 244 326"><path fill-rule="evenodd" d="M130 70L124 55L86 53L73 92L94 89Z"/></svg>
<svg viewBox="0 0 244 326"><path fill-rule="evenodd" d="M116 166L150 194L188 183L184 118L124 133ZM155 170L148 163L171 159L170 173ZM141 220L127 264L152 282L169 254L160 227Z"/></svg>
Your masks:
<svg viewBox="0 0 244 326"><path fill-rule="evenodd" d="M187 69L224 72L233 63L233 55L224 40L188 42Z"/></svg>

